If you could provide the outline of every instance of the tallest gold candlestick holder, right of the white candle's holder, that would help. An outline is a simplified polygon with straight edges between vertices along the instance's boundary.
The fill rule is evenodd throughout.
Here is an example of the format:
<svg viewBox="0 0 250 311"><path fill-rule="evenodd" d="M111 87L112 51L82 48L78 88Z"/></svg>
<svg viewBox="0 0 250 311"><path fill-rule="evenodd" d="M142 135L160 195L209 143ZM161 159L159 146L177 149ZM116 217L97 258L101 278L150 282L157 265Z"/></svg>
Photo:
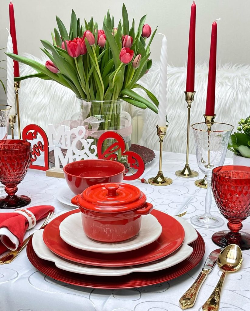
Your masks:
<svg viewBox="0 0 250 311"><path fill-rule="evenodd" d="M185 93L185 100L187 102L187 152L186 152L186 164L184 166L184 169L180 169L175 172L175 175L178 177L184 177L184 178L191 178L191 177L197 177L199 175L198 172L193 171L190 169L188 164L188 156L189 156L189 130L190 130L190 109L191 104L194 100L194 95L196 92L184 92Z"/></svg>

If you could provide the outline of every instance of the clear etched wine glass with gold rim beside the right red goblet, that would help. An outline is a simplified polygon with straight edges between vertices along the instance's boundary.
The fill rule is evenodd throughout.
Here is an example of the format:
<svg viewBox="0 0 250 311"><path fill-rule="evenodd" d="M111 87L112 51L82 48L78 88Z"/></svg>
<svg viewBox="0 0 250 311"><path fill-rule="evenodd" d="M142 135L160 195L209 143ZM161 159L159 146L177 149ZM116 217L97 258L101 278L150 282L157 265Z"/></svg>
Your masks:
<svg viewBox="0 0 250 311"><path fill-rule="evenodd" d="M211 195L211 177L212 169L223 165L225 161L227 146L233 126L226 123L195 123L192 125L196 158L198 166L204 173L207 181L207 191L205 198L205 213L191 218L194 225L203 228L218 228L224 224L224 220L215 217L210 213L212 195Z"/></svg>

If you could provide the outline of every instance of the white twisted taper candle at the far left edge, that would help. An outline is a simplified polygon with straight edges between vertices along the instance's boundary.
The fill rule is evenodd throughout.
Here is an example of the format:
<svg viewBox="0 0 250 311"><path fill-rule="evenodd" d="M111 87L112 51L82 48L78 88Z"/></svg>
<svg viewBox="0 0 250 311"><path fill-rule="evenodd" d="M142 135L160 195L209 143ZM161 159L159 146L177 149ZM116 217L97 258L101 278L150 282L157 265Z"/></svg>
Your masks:
<svg viewBox="0 0 250 311"><path fill-rule="evenodd" d="M7 53L13 53L12 37L8 29L7 31L9 33L7 40ZM13 65L13 59L7 56L7 104L12 107L10 115L16 114Z"/></svg>

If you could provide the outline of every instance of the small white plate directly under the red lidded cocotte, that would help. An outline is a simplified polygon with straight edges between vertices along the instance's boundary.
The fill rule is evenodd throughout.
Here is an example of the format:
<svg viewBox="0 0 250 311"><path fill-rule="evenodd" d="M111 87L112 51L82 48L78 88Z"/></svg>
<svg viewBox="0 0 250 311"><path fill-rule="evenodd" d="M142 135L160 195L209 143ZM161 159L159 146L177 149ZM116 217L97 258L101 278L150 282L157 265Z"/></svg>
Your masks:
<svg viewBox="0 0 250 311"><path fill-rule="evenodd" d="M61 222L59 230L62 240L75 248L95 253L123 253L153 243L161 235L162 227L155 216L145 215L135 237L117 243L103 243L86 236L82 229L81 213L75 213Z"/></svg>

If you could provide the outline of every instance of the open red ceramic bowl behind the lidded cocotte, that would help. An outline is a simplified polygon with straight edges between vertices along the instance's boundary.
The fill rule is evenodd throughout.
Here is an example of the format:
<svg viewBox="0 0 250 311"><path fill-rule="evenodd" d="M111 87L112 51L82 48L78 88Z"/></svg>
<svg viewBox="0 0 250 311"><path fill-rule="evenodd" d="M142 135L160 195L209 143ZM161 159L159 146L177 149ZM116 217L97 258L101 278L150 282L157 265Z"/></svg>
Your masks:
<svg viewBox="0 0 250 311"><path fill-rule="evenodd" d="M82 193L86 188L99 183L123 181L125 167L110 160L81 160L64 166L64 177L71 191Z"/></svg>

